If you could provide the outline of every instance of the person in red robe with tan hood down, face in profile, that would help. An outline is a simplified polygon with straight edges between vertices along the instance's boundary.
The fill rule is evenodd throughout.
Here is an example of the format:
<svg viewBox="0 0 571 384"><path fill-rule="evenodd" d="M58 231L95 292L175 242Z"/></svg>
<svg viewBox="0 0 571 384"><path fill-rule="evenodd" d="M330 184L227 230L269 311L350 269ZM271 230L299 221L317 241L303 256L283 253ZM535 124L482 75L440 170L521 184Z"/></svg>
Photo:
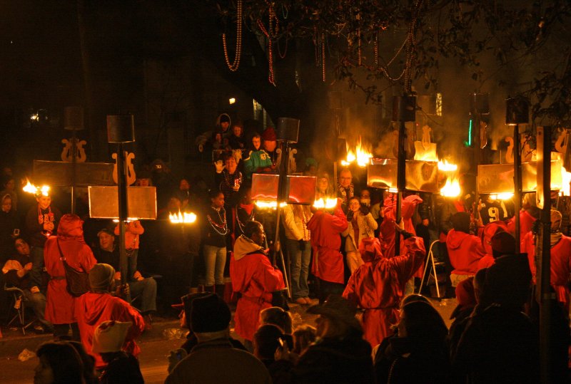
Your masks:
<svg viewBox="0 0 571 384"><path fill-rule="evenodd" d="M252 341L258 329L260 311L272 306L272 292L284 289L281 271L274 268L262 248L266 234L259 222L244 225L244 234L236 239L230 259L230 278L234 292L241 297L236 304L234 321L238 335Z"/></svg>

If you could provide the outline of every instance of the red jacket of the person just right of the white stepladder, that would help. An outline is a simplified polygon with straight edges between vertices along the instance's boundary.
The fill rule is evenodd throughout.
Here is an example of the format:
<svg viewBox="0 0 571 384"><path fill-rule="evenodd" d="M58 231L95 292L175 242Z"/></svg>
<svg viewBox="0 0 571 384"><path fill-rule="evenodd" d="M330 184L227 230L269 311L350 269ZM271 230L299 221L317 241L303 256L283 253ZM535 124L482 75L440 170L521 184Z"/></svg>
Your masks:
<svg viewBox="0 0 571 384"><path fill-rule="evenodd" d="M450 264L454 267L453 274L476 274L477 263L485 255L479 237L450 229L446 237L446 247Z"/></svg>

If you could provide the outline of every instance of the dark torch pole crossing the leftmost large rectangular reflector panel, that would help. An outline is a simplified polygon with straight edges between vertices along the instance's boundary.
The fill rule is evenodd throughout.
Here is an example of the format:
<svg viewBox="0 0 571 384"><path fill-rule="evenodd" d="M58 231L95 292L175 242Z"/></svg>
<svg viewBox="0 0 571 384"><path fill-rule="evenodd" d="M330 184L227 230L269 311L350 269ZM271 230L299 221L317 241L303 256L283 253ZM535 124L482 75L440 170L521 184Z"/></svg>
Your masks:
<svg viewBox="0 0 571 384"><path fill-rule="evenodd" d="M121 285L128 281L128 261L125 249L125 223L127 221L127 175L125 170L126 152L123 150L123 143L117 145L117 190L119 208L119 265L121 268ZM133 271L134 273L134 271ZM131 302L131 294L126 297L128 303Z"/></svg>

